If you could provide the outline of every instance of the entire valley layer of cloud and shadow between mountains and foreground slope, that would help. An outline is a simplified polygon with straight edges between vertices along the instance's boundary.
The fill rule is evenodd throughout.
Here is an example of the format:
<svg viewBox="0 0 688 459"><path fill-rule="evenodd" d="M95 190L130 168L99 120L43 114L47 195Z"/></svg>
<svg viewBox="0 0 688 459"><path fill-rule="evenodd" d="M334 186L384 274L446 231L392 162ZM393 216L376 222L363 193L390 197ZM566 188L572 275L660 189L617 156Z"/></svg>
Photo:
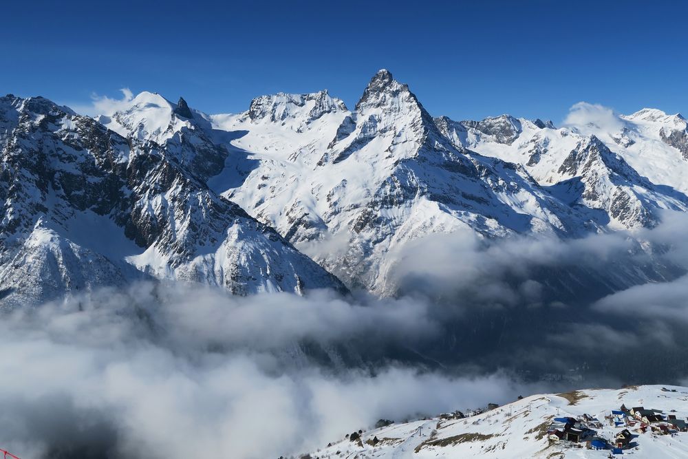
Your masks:
<svg viewBox="0 0 688 459"><path fill-rule="evenodd" d="M667 213L652 230L573 241L419 239L389 273L393 299L144 283L20 308L0 321L0 447L279 457L379 418L680 381L686 224Z"/></svg>

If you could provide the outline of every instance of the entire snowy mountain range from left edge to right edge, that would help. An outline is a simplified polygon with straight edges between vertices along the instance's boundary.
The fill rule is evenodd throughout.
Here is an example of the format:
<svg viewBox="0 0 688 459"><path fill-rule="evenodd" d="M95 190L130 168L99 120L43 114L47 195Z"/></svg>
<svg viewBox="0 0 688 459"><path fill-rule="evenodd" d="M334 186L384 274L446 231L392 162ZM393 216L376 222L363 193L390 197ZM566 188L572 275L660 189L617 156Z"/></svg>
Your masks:
<svg viewBox="0 0 688 459"><path fill-rule="evenodd" d="M387 70L352 110L321 91L208 115L143 92L89 118L8 95L0 148L7 306L136 279L394 295L398 254L427 235L572 238L688 211L678 114L433 118Z"/></svg>

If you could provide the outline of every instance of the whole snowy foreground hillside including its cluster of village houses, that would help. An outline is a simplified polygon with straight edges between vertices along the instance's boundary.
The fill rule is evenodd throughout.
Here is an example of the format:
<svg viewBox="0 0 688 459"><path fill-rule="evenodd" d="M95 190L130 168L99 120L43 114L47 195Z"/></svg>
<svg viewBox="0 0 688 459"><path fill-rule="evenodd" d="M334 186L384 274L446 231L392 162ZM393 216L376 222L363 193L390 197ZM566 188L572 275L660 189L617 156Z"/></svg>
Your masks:
<svg viewBox="0 0 688 459"><path fill-rule="evenodd" d="M682 457L687 416L688 387L587 389L405 423L380 420L299 458Z"/></svg>

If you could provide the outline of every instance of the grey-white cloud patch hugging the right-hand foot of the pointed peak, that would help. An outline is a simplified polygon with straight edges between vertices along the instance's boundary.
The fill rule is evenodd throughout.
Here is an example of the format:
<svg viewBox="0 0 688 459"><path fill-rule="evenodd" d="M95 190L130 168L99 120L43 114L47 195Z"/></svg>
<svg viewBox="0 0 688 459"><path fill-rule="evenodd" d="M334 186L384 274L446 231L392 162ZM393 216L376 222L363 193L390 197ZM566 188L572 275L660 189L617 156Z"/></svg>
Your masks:
<svg viewBox="0 0 688 459"><path fill-rule="evenodd" d="M407 294L420 291L437 298L460 292L465 306L516 306L539 301L542 286L537 276L542 276L543 268L596 269L614 259L630 259L629 251L637 246L623 232L581 239L513 236L497 241L473 233L434 234L402 246L387 275Z"/></svg>

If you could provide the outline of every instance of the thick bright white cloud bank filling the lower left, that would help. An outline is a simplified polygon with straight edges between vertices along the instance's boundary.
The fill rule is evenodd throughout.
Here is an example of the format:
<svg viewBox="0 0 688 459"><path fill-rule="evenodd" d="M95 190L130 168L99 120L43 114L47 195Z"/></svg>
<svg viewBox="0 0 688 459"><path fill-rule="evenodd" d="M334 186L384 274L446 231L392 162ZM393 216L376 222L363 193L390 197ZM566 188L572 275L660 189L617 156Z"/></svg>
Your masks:
<svg viewBox="0 0 688 459"><path fill-rule="evenodd" d="M277 457L378 418L527 391L494 374L337 372L299 347L373 330L412 341L433 332L425 312L326 292L235 298L159 284L15 311L0 323L0 445L34 458Z"/></svg>

